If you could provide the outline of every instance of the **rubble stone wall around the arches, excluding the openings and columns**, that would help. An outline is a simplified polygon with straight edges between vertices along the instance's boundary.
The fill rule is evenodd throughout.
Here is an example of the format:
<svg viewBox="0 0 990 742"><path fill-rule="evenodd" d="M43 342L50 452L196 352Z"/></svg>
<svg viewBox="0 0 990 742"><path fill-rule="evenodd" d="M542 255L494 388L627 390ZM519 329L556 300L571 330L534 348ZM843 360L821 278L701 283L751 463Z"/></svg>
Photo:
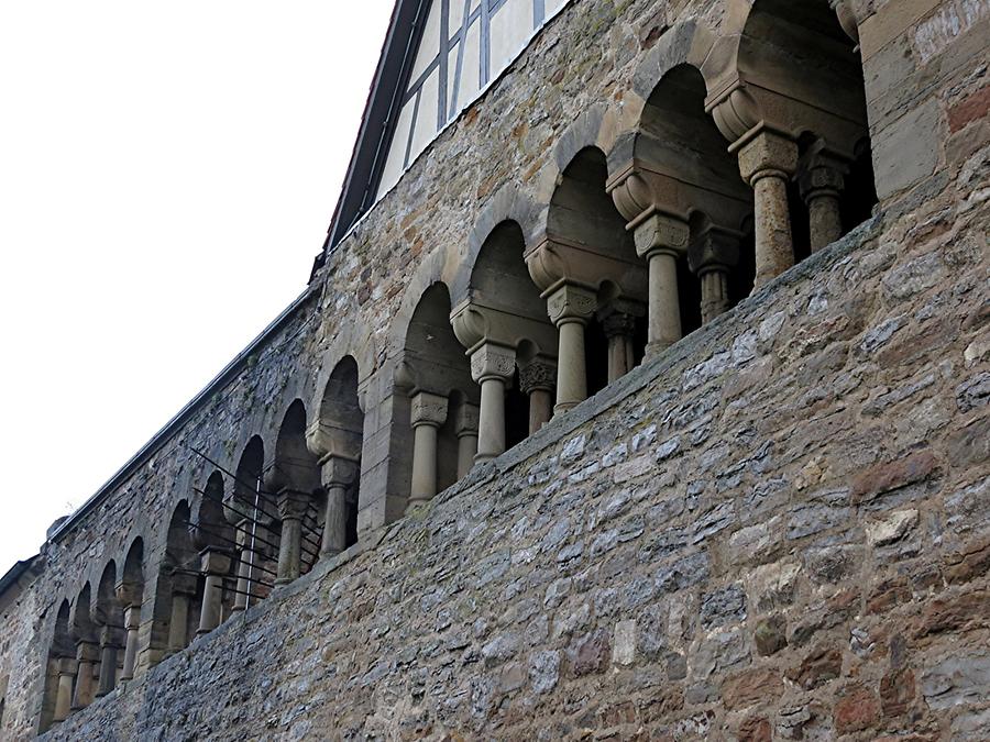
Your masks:
<svg viewBox="0 0 990 742"><path fill-rule="evenodd" d="M607 152L664 70L717 62L749 5L578 0L45 545L3 618L4 739L37 730L59 603L138 536L138 679L53 738L980 739L990 2L847 4L871 224L386 528L408 494L394 377L419 297L443 281L457 301L498 220L538 231L574 153ZM254 434L272 452L345 355L361 544L154 666L168 518L211 470L185 445L229 469Z"/></svg>

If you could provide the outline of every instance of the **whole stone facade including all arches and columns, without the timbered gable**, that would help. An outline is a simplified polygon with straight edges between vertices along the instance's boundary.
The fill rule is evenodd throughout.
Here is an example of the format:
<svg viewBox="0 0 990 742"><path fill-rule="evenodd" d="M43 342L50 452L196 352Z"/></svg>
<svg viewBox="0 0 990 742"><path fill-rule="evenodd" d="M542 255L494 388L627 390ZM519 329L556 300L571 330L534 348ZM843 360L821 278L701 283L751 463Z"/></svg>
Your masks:
<svg viewBox="0 0 990 742"><path fill-rule="evenodd" d="M566 4L3 578L3 739L988 739L988 37Z"/></svg>

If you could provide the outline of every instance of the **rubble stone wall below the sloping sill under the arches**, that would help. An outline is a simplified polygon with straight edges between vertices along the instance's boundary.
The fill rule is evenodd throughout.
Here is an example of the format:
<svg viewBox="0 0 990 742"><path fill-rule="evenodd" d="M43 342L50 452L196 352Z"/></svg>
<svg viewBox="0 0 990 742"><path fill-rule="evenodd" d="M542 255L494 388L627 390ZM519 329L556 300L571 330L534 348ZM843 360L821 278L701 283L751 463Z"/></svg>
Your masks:
<svg viewBox="0 0 990 742"><path fill-rule="evenodd" d="M990 262L961 188L50 737L986 739Z"/></svg>

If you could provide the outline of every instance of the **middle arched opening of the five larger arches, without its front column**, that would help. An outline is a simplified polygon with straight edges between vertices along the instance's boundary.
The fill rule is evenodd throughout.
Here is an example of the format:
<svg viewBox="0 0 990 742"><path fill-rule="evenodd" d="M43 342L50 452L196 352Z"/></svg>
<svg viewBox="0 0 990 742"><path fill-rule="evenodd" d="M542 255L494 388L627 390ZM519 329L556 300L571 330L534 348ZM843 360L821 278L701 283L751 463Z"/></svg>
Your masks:
<svg viewBox="0 0 990 742"><path fill-rule="evenodd" d="M597 147L581 149L564 168L547 217L548 236L564 265L562 280L594 295L595 311L584 331L587 396L639 364L645 350L647 265L636 254L607 181L605 154ZM627 347L617 351L617 344ZM628 357L620 370L609 368L616 353Z"/></svg>

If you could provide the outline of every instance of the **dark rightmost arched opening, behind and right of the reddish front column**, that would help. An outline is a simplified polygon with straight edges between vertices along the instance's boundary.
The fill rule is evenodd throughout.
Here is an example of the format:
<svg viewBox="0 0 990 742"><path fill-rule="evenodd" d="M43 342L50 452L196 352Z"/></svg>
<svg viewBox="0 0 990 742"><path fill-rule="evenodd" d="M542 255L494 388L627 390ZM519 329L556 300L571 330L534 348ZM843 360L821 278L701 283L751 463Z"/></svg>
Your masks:
<svg viewBox="0 0 990 742"><path fill-rule="evenodd" d="M877 203L862 64L825 2L757 0L739 44L740 76L773 91L798 143L788 204L795 261L867 219Z"/></svg>

